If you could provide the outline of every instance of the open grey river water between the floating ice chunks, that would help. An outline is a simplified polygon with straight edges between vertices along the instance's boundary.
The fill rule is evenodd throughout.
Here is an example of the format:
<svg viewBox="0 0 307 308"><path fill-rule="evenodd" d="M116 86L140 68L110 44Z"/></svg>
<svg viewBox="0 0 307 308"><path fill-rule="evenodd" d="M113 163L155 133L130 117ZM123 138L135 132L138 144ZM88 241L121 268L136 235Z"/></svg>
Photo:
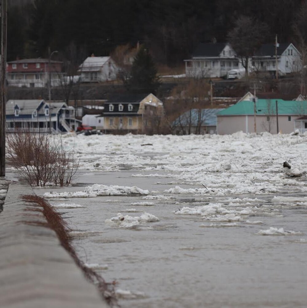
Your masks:
<svg viewBox="0 0 307 308"><path fill-rule="evenodd" d="M132 177L134 173L138 172L83 172L74 186L56 188L56 191L80 191L95 183L137 186L153 191L151 195L172 199L156 201L144 200L142 196L101 196L50 200L51 204L85 206L59 211L71 229L83 231L73 240L79 257L85 263L101 265L97 272L107 282L115 280L117 290L130 291L118 292L122 307L307 307L305 206L272 203L274 194L231 196L257 197L261 201L253 204L253 214L246 215L237 225L210 227L212 221L204 221L201 216L176 215L175 211L183 206L224 202L230 196L172 195L164 192L174 187L167 184L172 179ZM191 188L191 185L180 184L180 187ZM285 186L281 193L287 196L291 189ZM35 189L37 194L46 191L50 189ZM131 205L144 201L155 205ZM246 202L239 205L243 209L247 206L251 205ZM131 208L138 212L128 213L127 209ZM134 217L144 211L160 221L144 223L134 229L105 222L117 213ZM262 221L263 224L246 224L246 220ZM300 233L258 234L270 227Z"/></svg>

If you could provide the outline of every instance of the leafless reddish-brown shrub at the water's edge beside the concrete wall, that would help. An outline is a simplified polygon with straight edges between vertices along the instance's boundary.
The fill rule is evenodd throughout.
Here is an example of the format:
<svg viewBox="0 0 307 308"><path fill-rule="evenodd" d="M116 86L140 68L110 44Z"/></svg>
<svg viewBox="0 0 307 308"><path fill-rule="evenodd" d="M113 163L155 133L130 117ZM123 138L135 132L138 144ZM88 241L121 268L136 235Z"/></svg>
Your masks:
<svg viewBox="0 0 307 308"><path fill-rule="evenodd" d="M7 135L7 161L32 186L54 183L68 186L74 180L79 161L48 133L15 132Z"/></svg>

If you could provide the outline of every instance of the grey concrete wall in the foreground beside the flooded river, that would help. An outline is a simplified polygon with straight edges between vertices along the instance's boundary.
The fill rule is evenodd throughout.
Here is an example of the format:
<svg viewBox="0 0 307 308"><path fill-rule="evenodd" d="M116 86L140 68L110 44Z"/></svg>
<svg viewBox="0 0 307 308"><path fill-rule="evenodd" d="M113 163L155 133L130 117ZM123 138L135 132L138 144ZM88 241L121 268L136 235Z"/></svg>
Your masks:
<svg viewBox="0 0 307 308"><path fill-rule="evenodd" d="M31 221L46 222L21 199L27 184L9 186L0 213L1 308L108 307L60 245L56 233Z"/></svg>

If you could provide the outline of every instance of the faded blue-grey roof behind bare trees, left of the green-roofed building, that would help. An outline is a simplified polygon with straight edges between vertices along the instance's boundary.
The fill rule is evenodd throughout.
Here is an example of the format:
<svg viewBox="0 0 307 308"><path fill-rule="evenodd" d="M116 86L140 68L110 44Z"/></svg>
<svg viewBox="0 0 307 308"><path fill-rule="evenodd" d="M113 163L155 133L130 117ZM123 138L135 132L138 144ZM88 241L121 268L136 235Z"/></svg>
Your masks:
<svg viewBox="0 0 307 308"><path fill-rule="evenodd" d="M196 126L199 122L199 117L201 121L201 125L204 126L216 126L217 122L217 113L219 111L224 110L224 108L219 109L191 109L190 111L186 111L182 115L180 115L174 122L174 125L189 125L191 122L192 126Z"/></svg>

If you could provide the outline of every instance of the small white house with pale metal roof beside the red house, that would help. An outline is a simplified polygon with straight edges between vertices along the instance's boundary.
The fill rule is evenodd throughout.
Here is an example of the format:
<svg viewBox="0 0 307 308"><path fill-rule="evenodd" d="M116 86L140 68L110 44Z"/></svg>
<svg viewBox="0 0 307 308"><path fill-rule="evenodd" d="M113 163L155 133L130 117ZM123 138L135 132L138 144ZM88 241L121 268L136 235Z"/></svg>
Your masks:
<svg viewBox="0 0 307 308"><path fill-rule="evenodd" d="M118 67L111 57L88 57L79 66L81 82L115 80Z"/></svg>

